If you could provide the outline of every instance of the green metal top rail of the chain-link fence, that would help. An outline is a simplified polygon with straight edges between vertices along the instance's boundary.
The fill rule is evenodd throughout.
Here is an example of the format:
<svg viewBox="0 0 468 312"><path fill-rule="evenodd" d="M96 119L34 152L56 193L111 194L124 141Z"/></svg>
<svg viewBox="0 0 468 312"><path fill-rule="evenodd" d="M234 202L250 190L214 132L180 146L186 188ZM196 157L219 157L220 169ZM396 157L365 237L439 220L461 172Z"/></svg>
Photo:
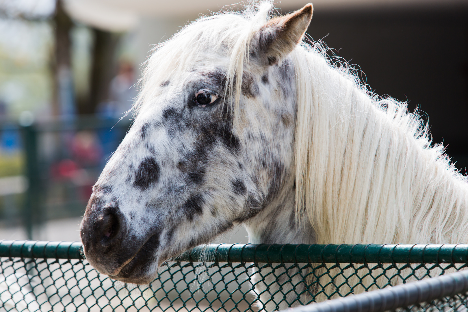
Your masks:
<svg viewBox="0 0 468 312"><path fill-rule="evenodd" d="M0 240L0 257L86 259L80 242ZM468 263L468 244L416 245L253 245L210 244L195 247L178 261L324 262L324 263Z"/></svg>

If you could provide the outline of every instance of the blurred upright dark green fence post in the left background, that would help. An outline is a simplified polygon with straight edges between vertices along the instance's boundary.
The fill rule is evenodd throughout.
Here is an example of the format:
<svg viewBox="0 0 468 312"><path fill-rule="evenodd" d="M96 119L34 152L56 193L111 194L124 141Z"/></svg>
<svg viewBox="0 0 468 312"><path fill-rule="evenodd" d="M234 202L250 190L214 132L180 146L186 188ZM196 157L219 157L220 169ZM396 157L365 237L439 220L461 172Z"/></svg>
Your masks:
<svg viewBox="0 0 468 312"><path fill-rule="evenodd" d="M34 125L23 126L23 143L26 157L26 176L28 178L28 191L24 202L22 219L28 239L33 239L33 227L39 224L39 168L37 163L37 130Z"/></svg>

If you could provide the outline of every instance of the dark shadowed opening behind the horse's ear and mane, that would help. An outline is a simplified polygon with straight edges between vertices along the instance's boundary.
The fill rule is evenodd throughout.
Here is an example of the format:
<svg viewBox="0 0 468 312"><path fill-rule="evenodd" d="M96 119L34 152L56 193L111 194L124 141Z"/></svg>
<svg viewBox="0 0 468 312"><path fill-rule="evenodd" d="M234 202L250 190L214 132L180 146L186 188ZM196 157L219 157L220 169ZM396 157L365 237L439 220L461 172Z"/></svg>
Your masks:
<svg viewBox="0 0 468 312"><path fill-rule="evenodd" d="M468 167L468 10L314 12L308 33L357 64L374 92L429 120L456 167Z"/></svg>

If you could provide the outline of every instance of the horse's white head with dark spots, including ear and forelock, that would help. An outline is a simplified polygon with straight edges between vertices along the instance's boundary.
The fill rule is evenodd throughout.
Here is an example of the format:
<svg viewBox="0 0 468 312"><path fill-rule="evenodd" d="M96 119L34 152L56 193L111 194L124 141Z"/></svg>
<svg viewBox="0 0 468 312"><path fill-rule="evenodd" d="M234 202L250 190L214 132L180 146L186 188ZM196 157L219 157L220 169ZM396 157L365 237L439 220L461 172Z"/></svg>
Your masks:
<svg viewBox="0 0 468 312"><path fill-rule="evenodd" d="M162 262L234 224L255 225L255 242L262 228L294 222L281 215L294 206L289 54L312 5L268 20L270 8L202 17L153 52L134 123L81 223L84 253L101 273L149 283ZM262 214L278 215L277 224Z"/></svg>

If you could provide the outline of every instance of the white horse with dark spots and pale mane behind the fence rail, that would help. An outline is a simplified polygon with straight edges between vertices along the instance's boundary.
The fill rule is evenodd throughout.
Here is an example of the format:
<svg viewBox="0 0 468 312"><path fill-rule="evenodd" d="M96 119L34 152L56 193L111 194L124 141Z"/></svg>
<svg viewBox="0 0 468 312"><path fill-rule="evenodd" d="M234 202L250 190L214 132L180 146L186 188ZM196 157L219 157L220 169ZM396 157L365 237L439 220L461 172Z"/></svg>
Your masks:
<svg viewBox="0 0 468 312"><path fill-rule="evenodd" d="M102 274L149 283L238 224L254 244L468 242L467 177L417 112L303 40L312 4L273 9L200 17L152 52L81 223Z"/></svg>

